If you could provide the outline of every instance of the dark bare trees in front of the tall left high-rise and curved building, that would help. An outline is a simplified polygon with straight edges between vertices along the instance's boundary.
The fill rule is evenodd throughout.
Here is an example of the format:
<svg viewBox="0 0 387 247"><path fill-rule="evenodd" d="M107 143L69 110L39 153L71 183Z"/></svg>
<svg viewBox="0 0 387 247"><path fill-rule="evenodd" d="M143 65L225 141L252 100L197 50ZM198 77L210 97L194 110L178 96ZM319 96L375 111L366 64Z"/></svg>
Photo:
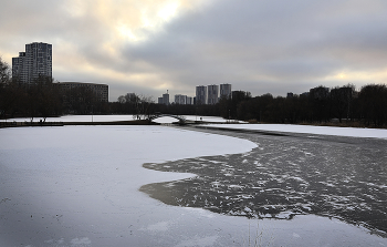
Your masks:
<svg viewBox="0 0 387 247"><path fill-rule="evenodd" d="M84 88L61 90L52 78L39 76L22 83L11 76L11 68L0 58L0 117L59 116L62 114L109 113L109 104Z"/></svg>

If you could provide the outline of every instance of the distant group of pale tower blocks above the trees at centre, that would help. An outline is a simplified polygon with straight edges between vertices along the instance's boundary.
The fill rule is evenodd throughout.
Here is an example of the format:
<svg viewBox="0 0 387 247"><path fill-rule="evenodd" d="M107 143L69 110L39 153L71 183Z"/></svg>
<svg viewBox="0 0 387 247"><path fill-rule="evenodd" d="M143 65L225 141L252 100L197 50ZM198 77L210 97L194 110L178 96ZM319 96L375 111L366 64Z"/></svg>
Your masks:
<svg viewBox="0 0 387 247"><path fill-rule="evenodd" d="M231 84L198 85L195 97L176 94L175 104L217 104L221 97L231 99ZM170 104L168 90L161 97L158 97L158 103Z"/></svg>

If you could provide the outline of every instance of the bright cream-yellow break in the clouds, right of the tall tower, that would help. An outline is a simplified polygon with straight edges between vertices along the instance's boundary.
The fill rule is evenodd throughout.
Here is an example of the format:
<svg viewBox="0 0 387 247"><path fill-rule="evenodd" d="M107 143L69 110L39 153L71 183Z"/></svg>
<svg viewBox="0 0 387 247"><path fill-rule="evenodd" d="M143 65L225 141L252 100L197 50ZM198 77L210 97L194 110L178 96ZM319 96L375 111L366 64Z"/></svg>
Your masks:
<svg viewBox="0 0 387 247"><path fill-rule="evenodd" d="M197 4L199 4L198 1ZM138 45L143 42L148 41L150 35L155 35L163 30L164 24L172 21L177 17L179 11L185 11L192 8L192 3L187 4L184 0L161 0L161 1L121 1L119 4L106 6L104 1L69 1L65 10L70 13L73 19L88 22L88 19L95 19L95 22L100 22L101 27L104 27L102 31L103 35L97 37L98 47L94 53L98 52L96 58L93 60L83 61L83 59L74 59L73 49L65 49L55 47L55 56L59 56L61 63L67 63L67 68L72 68L72 71L77 70L79 73L92 73L94 78L101 81L97 83L106 83L109 81L121 81L135 86L153 86L153 89L165 91L166 89L172 88L172 83L163 75L163 72L153 68L151 64L146 61L133 61L133 66L146 68L145 71L134 71L129 68L127 70L116 70L114 64L111 66L98 65L102 60L111 59L117 65L125 64L125 55L121 49L125 45ZM94 31L94 30L93 30ZM96 29L92 34L97 34ZM64 43L64 42L62 42ZM82 54L83 51L80 51ZM98 60L101 56L102 60ZM80 56L81 58L81 56ZM74 64L76 63L76 65ZM139 65L140 64L140 65ZM145 64L145 66L144 66ZM64 72L63 68L57 66L61 72ZM149 70L150 69L150 70ZM66 76L67 81L79 81L76 78ZM80 80L83 81L83 80ZM129 86L128 86L129 88ZM130 89L128 89L129 91ZM122 94L125 94L123 92ZM116 95L113 96L113 100ZM112 100L112 99L111 99Z"/></svg>

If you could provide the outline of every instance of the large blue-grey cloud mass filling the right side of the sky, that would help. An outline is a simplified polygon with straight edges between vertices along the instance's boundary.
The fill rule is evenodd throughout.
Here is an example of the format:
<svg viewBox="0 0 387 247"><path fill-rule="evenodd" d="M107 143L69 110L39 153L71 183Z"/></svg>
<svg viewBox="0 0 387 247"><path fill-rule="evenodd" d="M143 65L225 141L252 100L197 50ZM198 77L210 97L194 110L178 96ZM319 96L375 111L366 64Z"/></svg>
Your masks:
<svg viewBox="0 0 387 247"><path fill-rule="evenodd" d="M386 8L379 4L386 3L352 2L221 1L206 13L172 22L165 35L132 54L147 58L189 86L241 83L257 93L264 93L260 83L283 94L295 82L316 86L341 70L384 70L387 22Z"/></svg>

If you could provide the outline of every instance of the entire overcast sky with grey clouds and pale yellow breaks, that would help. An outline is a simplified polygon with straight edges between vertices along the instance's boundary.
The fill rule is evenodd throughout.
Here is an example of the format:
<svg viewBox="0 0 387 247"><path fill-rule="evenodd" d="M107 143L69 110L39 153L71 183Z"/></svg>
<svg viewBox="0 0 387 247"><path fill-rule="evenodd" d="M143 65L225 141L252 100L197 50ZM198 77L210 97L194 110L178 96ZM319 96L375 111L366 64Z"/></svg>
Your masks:
<svg viewBox="0 0 387 247"><path fill-rule="evenodd" d="M106 83L109 101L387 83L386 0L2 0L2 60L31 42L53 45L55 80Z"/></svg>

